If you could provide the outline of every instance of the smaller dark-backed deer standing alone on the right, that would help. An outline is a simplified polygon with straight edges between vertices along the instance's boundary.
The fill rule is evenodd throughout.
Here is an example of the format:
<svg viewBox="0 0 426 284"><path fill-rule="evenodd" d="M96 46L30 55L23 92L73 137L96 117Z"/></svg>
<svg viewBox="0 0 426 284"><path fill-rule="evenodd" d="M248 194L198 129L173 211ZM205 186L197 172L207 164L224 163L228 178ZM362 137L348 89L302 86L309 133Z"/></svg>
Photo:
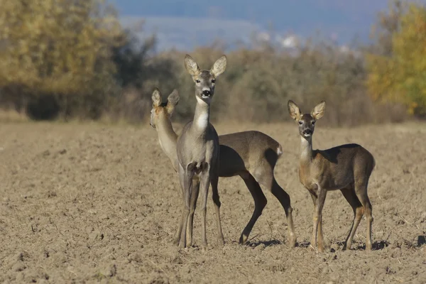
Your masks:
<svg viewBox="0 0 426 284"><path fill-rule="evenodd" d="M327 150L312 150L315 122L322 118L324 111L324 101L317 104L310 114L302 114L293 101L288 101L288 112L299 125L302 141L299 165L300 182L309 190L315 206L311 246L316 248L318 245L318 251L324 251L322 207L324 207L327 191L340 190L354 209L351 230L343 249L351 249L356 228L365 213L368 222L366 250L370 251L373 215L367 187L368 179L376 163L373 155L358 144L344 144ZM317 235L319 235L318 238Z"/></svg>

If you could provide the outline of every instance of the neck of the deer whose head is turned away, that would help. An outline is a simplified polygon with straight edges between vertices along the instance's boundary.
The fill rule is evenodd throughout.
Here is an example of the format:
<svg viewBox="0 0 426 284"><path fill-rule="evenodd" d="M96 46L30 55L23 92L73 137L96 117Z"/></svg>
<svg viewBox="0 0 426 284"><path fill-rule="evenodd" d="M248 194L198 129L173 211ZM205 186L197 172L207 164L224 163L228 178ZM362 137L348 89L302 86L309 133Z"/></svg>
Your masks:
<svg viewBox="0 0 426 284"><path fill-rule="evenodd" d="M178 170L178 154L176 152L176 141L178 135L173 130L170 117L162 117L158 120L158 125L155 126L158 134L158 141L165 155L168 156L173 163L173 168Z"/></svg>

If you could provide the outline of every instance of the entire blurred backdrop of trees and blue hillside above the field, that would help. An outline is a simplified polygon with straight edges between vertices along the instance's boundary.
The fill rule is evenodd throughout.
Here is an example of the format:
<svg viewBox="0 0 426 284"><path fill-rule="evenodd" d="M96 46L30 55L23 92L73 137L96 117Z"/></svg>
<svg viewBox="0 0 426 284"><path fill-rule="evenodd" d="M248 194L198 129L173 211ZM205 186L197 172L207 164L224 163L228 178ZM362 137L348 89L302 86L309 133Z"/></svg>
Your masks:
<svg viewBox="0 0 426 284"><path fill-rule="evenodd" d="M426 116L426 1L0 0L0 120L145 121L183 58L226 54L213 121L289 121L327 100L329 126ZM243 111L244 110L244 111Z"/></svg>

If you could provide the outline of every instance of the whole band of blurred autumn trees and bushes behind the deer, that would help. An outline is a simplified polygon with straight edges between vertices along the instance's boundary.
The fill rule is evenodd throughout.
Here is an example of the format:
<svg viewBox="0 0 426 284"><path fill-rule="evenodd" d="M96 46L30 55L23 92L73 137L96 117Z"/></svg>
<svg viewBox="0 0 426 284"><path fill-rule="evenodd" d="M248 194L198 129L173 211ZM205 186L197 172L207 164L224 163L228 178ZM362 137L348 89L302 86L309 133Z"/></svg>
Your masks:
<svg viewBox="0 0 426 284"><path fill-rule="evenodd" d="M374 43L349 51L318 39L291 51L256 42L226 50L219 40L156 53L155 35L138 39L104 0L0 3L0 109L31 119L140 122L159 87L164 94L179 90L173 119L186 121L194 104L185 53L203 68L228 55L213 120L285 121L288 99L304 109L326 99L324 121L335 126L401 121L426 111L426 10L418 4L393 2L378 16Z"/></svg>

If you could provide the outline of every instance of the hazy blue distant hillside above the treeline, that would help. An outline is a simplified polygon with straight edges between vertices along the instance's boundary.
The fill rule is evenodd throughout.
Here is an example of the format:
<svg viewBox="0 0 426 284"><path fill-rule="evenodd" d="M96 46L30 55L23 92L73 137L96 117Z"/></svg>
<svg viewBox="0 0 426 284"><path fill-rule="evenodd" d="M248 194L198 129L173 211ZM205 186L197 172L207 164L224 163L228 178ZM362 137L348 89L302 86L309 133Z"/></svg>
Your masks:
<svg viewBox="0 0 426 284"><path fill-rule="evenodd" d="M426 3L426 0L421 0ZM281 35L322 35L346 44L366 42L378 11L388 0L113 0L125 25L146 19L146 33L158 33L159 48L192 48L219 36L248 40L272 27ZM141 34L143 36L145 33Z"/></svg>

